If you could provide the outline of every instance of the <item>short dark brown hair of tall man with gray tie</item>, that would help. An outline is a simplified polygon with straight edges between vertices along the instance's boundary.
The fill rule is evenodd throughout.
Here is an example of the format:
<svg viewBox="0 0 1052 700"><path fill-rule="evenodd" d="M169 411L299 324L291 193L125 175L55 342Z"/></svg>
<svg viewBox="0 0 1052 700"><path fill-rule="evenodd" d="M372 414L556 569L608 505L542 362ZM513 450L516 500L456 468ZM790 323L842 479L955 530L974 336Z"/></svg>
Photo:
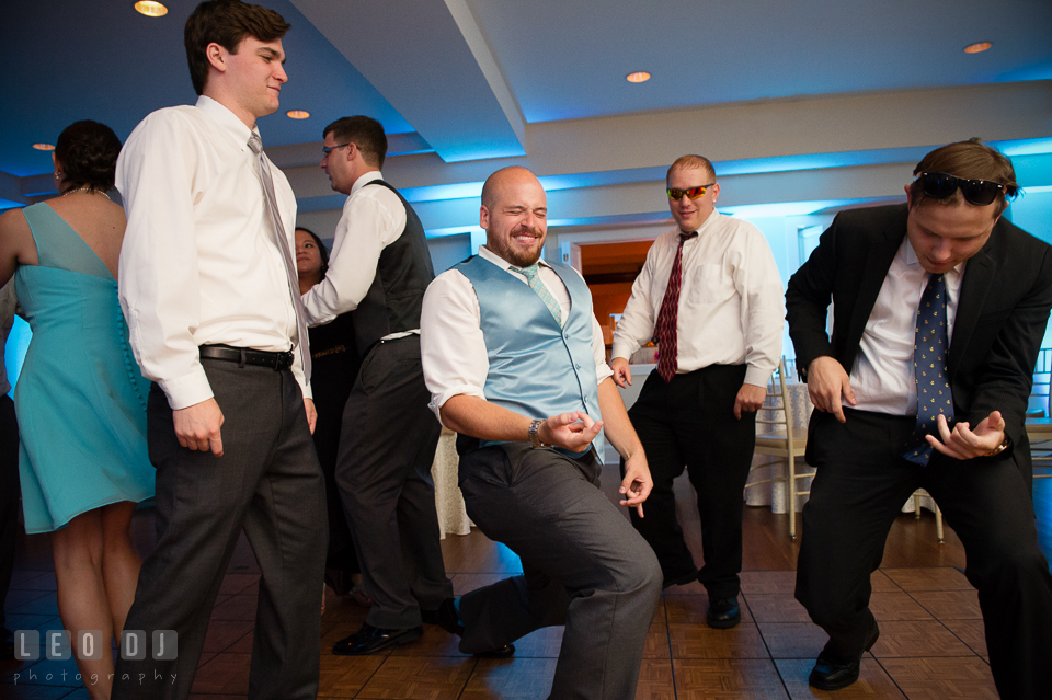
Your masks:
<svg viewBox="0 0 1052 700"><path fill-rule="evenodd" d="M208 0L202 2L186 20L183 43L186 45L186 61L190 78L197 94L205 92L208 82L208 56L205 49L215 42L231 54L247 36L261 42L274 42L285 36L291 26L274 10L241 0Z"/></svg>

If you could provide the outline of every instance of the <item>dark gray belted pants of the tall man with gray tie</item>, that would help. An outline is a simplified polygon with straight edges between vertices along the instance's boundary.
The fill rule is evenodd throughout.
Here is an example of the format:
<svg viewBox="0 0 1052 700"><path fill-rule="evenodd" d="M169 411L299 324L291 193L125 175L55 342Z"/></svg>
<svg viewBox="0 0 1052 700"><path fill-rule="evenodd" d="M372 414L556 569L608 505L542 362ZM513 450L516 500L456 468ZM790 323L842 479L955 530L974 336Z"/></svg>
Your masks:
<svg viewBox="0 0 1052 700"><path fill-rule="evenodd" d="M224 454L181 447L168 399L152 386L147 439L157 467L158 542L142 563L125 624L146 632L146 659L117 661L112 697L190 696L211 608L243 529L262 572L249 697L315 698L325 486L302 393L289 370L214 359L202 365L224 415ZM153 630L175 630L175 659L152 658Z"/></svg>

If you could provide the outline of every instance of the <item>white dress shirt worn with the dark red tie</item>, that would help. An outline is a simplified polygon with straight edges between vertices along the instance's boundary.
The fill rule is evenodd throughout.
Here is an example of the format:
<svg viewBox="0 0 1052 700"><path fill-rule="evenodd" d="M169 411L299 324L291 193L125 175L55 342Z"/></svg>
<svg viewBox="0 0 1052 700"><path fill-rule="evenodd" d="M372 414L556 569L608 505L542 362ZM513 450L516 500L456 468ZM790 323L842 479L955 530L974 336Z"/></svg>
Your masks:
<svg viewBox="0 0 1052 700"><path fill-rule="evenodd" d="M628 359L653 337L678 246L678 229L651 245L614 332L614 357ZM752 223L713 211L683 244L682 269L678 371L744 364L745 383L766 386L781 358L786 318L767 239Z"/></svg>

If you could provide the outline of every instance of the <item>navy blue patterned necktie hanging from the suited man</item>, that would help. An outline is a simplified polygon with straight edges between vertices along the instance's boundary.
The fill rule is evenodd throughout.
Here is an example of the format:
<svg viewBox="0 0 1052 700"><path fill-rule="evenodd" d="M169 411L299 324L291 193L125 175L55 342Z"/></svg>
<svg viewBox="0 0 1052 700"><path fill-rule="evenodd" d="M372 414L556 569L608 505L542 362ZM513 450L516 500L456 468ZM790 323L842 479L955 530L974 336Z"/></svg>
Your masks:
<svg viewBox="0 0 1052 700"><path fill-rule="evenodd" d="M946 280L942 275L931 275L921 295L917 308L916 340L913 346L913 372L917 382L917 426L906 448L905 457L916 464L926 466L933 447L925 435L938 437L938 415L953 421L953 397L946 369L950 347L946 328Z"/></svg>

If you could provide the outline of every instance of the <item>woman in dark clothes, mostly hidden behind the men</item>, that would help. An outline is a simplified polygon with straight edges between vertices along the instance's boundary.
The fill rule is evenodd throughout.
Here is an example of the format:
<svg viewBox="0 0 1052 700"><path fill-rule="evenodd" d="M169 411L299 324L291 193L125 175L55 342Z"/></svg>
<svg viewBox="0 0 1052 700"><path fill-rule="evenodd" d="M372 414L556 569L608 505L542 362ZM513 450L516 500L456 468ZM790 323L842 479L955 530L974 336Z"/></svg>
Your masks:
<svg viewBox="0 0 1052 700"><path fill-rule="evenodd" d="M329 268L329 250L313 231L296 229L296 271L299 292L320 283ZM371 605L362 584L358 559L351 538L351 528L343 513L343 502L335 482L336 457L343 409L358 376L362 358L354 344L351 313L336 317L331 323L308 331L311 358L311 390L318 423L315 426L315 449L325 474L329 504L329 554L325 560L325 583L338 595L351 595L361 605Z"/></svg>

